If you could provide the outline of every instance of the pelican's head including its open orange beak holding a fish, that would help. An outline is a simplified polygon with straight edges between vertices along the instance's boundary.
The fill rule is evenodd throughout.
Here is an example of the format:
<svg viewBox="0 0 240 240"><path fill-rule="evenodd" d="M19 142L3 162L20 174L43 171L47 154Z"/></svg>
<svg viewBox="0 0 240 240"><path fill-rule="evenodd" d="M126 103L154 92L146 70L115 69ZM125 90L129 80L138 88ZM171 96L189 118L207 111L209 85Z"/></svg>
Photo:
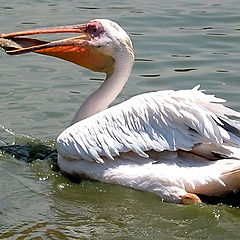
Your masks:
<svg viewBox="0 0 240 240"><path fill-rule="evenodd" d="M23 37L70 32L81 35L53 42ZM130 37L117 23L107 19L96 19L82 25L2 34L0 46L10 55L36 52L71 61L96 72L105 72L108 76L112 74L119 56L134 56Z"/></svg>

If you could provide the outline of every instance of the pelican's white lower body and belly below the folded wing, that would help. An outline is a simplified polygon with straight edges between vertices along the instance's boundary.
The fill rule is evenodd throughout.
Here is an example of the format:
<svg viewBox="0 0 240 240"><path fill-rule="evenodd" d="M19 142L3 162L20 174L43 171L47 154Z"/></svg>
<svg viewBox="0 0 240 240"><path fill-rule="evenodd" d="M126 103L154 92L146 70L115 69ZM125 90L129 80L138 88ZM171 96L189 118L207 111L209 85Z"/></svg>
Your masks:
<svg viewBox="0 0 240 240"><path fill-rule="evenodd" d="M154 159L152 157L125 153L115 161L105 158L104 164L99 164L79 160L69 162L59 156L59 166L80 177L149 191L167 202L181 203L187 192L220 196L235 190L234 185L222 180L222 174L239 168L239 160L208 161L181 152L162 152Z"/></svg>

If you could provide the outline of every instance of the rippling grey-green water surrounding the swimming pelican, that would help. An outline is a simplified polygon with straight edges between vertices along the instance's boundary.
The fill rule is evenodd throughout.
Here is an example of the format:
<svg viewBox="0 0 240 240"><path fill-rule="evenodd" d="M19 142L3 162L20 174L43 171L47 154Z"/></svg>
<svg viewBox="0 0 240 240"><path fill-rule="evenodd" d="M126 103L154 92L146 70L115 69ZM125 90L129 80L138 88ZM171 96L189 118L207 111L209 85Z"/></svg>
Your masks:
<svg viewBox="0 0 240 240"><path fill-rule="evenodd" d="M130 33L136 52L131 79L114 104L201 84L239 111L239 11L238 1L1 1L0 31L110 18ZM121 186L75 183L58 171L54 139L103 75L3 52L0 69L0 139L19 145L0 154L0 239L240 237L238 207L162 203Z"/></svg>

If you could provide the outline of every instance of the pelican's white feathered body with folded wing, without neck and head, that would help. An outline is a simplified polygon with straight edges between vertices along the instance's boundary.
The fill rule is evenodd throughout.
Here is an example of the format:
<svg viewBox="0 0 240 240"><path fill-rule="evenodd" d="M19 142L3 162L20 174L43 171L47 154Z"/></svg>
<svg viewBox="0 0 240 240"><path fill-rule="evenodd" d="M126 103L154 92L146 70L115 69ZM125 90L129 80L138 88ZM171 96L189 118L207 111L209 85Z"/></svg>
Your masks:
<svg viewBox="0 0 240 240"><path fill-rule="evenodd" d="M182 202L188 192L235 191L240 127L227 115L240 114L222 102L198 87L135 96L63 131L57 139L59 166L69 174L147 190L168 202ZM209 160L223 157L228 159Z"/></svg>

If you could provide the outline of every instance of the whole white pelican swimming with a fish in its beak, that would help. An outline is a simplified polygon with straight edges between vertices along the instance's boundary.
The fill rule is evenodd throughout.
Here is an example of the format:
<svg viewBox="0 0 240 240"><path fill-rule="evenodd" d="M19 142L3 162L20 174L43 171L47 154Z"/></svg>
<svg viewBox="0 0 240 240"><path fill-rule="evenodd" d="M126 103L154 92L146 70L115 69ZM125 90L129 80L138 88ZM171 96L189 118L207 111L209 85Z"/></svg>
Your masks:
<svg viewBox="0 0 240 240"><path fill-rule="evenodd" d="M79 34L52 42L26 37L47 33ZM134 63L131 39L117 23L95 19L1 34L0 45L10 55L34 52L106 73L57 138L63 172L184 204L240 189L240 113L224 100L197 86L144 93L109 107Z"/></svg>

